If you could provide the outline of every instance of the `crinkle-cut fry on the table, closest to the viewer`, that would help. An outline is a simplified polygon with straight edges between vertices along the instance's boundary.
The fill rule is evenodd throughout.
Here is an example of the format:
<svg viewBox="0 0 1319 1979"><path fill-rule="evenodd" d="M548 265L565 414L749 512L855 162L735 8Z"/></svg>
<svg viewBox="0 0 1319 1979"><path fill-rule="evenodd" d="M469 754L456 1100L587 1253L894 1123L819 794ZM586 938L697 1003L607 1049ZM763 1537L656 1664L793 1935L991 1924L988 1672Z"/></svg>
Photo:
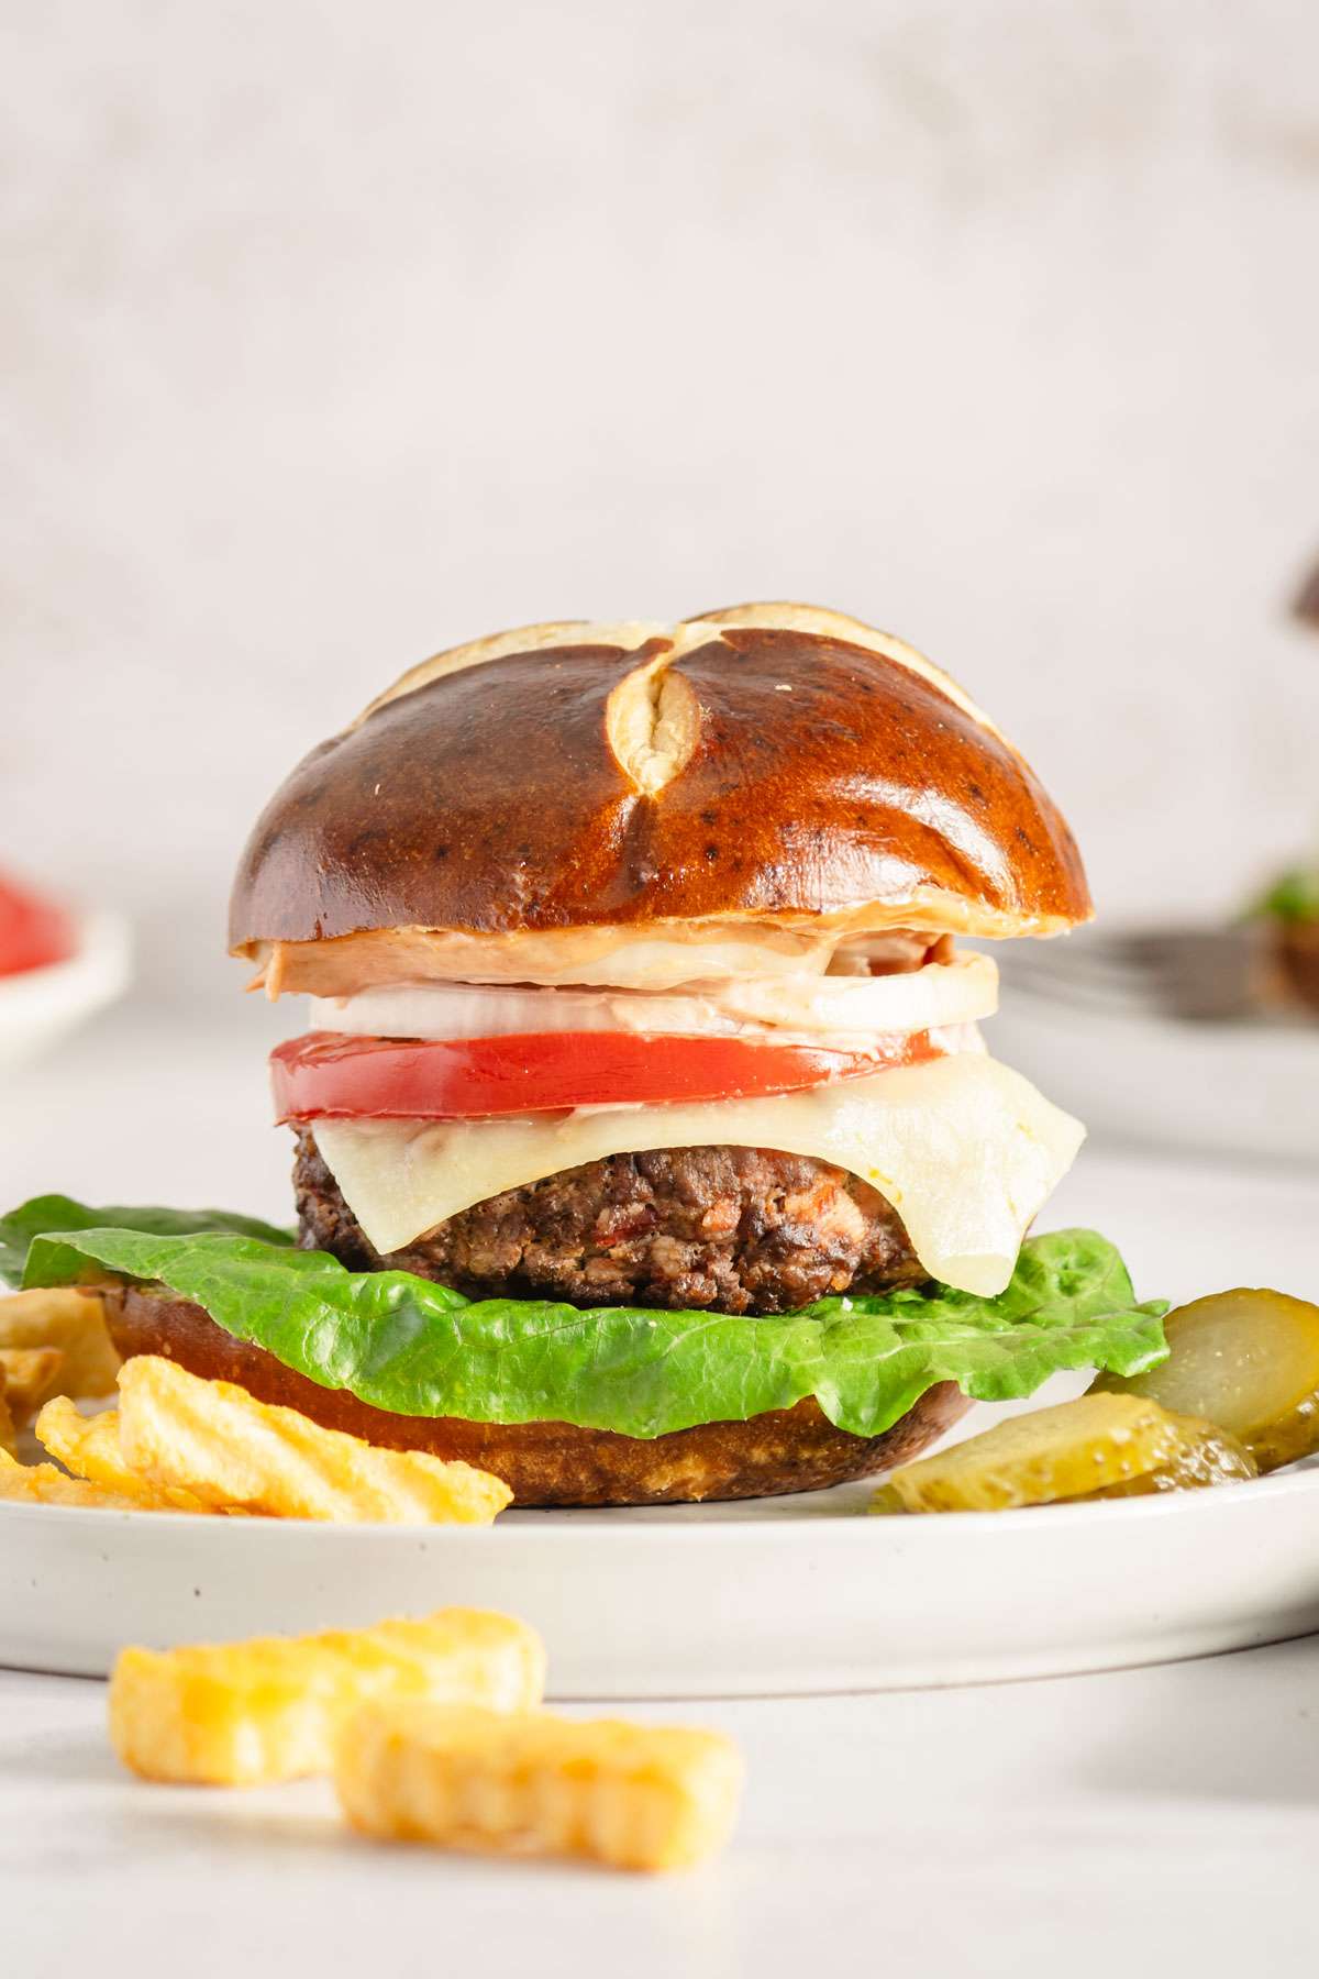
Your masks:
<svg viewBox="0 0 1319 1979"><path fill-rule="evenodd" d="M368 1704L344 1730L334 1785L364 1835L660 1870L728 1838L742 1757L718 1732Z"/></svg>

